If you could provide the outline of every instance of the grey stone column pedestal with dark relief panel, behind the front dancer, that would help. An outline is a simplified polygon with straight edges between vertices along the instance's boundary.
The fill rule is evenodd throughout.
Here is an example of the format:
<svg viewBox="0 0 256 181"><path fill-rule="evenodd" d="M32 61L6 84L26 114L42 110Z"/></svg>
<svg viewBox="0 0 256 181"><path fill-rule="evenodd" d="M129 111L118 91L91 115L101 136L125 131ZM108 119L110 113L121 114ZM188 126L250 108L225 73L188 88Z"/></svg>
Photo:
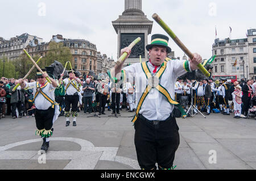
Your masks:
<svg viewBox="0 0 256 181"><path fill-rule="evenodd" d="M127 47L137 37L141 41L133 47L130 57L125 61L124 66L139 62L141 55L142 61L147 60L147 36L151 33L153 22L147 19L142 11L142 0L125 0L125 11L119 15L117 20L112 22L115 32L118 35L117 56L120 50Z"/></svg>

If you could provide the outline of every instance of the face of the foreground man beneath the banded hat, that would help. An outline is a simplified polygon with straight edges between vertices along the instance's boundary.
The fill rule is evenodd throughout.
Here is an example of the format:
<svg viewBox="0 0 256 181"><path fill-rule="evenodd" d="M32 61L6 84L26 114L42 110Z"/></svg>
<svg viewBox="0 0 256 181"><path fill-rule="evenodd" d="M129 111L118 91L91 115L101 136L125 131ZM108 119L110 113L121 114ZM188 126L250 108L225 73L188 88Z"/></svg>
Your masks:
<svg viewBox="0 0 256 181"><path fill-rule="evenodd" d="M151 63L161 65L167 57L166 47L154 46L149 50Z"/></svg>

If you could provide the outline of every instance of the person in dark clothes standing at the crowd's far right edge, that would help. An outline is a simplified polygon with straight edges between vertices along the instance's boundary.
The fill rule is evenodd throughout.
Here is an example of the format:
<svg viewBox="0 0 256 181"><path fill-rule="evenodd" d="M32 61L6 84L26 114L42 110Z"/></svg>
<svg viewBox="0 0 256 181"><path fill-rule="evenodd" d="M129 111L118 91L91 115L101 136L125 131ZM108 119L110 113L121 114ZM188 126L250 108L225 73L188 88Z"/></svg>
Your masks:
<svg viewBox="0 0 256 181"><path fill-rule="evenodd" d="M253 92L253 88L250 86L251 84L251 80L247 80L246 84L243 85L242 87L242 92L243 92L243 96L242 96L242 113L241 113L241 117L243 118L247 118L248 116L248 110L249 110L249 106L250 106L250 100L251 100L251 94Z"/></svg>

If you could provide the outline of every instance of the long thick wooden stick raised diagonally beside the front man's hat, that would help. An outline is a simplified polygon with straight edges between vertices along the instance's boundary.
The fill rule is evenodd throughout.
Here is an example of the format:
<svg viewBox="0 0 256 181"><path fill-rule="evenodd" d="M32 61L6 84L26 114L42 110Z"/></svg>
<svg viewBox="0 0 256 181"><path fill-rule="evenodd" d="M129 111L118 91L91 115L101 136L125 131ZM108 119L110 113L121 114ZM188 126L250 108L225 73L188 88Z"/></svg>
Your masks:
<svg viewBox="0 0 256 181"><path fill-rule="evenodd" d="M175 33L167 26L166 23L163 22L163 20L158 16L158 14L154 13L152 15L152 18L168 33L168 35L171 36L172 40L175 41L175 43L183 50L185 54L192 60L193 59L193 54L185 47L185 45L178 39L178 37L175 35ZM204 68L202 64L197 65L198 68L201 70L201 72L206 76L210 77L209 71Z"/></svg>

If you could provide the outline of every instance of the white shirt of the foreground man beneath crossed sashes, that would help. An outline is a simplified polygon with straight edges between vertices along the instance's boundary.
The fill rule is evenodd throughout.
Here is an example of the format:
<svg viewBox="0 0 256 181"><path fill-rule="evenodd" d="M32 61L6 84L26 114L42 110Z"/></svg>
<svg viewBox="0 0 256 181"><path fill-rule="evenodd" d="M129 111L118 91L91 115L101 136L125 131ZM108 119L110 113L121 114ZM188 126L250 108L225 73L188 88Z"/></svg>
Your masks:
<svg viewBox="0 0 256 181"><path fill-rule="evenodd" d="M177 77L183 75L187 71L183 68L184 61L181 60L170 60L167 62L167 67L162 77L159 80L160 85L162 85L171 95L171 98L174 100L174 85ZM147 62L148 69L152 73L154 70L154 66L148 61ZM157 68L159 70L160 66ZM190 64L189 64L190 69ZM141 96L146 89L147 86L147 78L145 73L143 72L142 66L140 63L136 63L130 66L126 66L123 70L125 70L125 75L127 77L127 81L133 82L133 78L135 78L135 86L136 86L136 107L138 106L138 102L141 99ZM158 90L151 89L144 102L142 104L141 110L139 111L146 119L148 120L166 120L172 110L174 109L174 105L171 105L166 97L162 95Z"/></svg>

